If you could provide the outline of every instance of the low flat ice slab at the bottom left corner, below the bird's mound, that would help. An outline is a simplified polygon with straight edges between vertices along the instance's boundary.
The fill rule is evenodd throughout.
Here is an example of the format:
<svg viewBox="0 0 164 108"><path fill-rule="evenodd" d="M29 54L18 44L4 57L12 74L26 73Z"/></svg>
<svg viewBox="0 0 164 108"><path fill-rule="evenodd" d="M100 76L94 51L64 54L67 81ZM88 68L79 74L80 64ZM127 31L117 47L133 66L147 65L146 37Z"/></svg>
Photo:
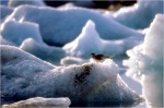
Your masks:
<svg viewBox="0 0 164 108"><path fill-rule="evenodd" d="M11 105L3 105L2 108L47 108L47 107L69 107L69 98L43 98L35 97L27 100L21 100Z"/></svg>

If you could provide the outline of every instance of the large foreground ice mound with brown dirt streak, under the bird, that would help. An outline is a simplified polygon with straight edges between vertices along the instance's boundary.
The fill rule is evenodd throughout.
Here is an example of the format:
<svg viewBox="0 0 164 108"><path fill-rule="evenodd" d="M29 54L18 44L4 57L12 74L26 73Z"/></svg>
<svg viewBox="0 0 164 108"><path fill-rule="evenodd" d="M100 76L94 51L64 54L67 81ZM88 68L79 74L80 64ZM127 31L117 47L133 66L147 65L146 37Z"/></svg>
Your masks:
<svg viewBox="0 0 164 108"><path fill-rule="evenodd" d="M0 49L2 103L36 96L69 97L71 106L132 106L142 100L121 80L110 59L55 67L16 47L2 45Z"/></svg>

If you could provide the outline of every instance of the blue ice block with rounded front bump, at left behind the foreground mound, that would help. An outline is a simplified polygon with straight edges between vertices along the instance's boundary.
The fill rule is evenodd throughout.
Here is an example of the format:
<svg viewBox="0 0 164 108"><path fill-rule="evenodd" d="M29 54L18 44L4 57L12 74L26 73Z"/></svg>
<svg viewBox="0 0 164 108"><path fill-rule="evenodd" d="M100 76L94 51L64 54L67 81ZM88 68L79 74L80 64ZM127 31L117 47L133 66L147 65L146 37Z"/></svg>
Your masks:
<svg viewBox="0 0 164 108"><path fill-rule="evenodd" d="M66 52L61 48L46 45L38 27L38 24L31 22L3 22L1 45L17 46L43 60L57 64L66 56Z"/></svg>

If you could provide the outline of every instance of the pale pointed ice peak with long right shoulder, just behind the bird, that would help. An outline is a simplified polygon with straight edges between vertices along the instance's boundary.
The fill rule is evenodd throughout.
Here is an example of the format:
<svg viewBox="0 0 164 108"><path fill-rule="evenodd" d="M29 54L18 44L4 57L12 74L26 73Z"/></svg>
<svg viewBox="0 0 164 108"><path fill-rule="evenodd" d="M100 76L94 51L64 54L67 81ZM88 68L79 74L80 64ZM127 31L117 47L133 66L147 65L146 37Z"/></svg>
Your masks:
<svg viewBox="0 0 164 108"><path fill-rule="evenodd" d="M131 36L118 40L104 40L95 29L93 21L87 21L82 33L63 49L71 56L89 57L91 52L106 55L122 55L127 49L140 44L141 36Z"/></svg>

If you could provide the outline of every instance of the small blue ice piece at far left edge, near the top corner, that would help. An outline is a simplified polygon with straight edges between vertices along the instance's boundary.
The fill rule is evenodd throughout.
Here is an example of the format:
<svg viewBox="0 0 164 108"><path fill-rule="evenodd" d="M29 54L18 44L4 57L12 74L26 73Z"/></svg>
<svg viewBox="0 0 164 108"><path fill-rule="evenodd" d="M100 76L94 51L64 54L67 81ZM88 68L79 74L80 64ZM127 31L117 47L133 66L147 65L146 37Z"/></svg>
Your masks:
<svg viewBox="0 0 164 108"><path fill-rule="evenodd" d="M13 9L4 5L0 5L1 14L0 20L5 19L9 14L12 13ZM2 21L1 21L2 22Z"/></svg>

